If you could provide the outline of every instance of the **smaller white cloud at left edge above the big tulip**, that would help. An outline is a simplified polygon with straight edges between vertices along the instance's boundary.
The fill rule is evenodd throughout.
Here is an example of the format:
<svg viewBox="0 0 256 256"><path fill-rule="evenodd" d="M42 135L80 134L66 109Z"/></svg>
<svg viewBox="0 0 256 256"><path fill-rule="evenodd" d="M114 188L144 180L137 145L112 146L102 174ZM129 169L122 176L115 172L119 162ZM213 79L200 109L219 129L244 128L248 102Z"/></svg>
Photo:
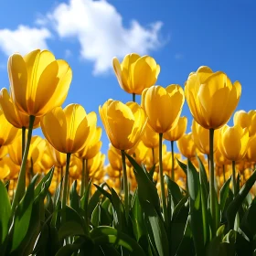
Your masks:
<svg viewBox="0 0 256 256"><path fill-rule="evenodd" d="M0 49L7 55L14 52L26 54L35 48L48 48L47 39L51 37L48 28L20 25L16 30L0 29Z"/></svg>

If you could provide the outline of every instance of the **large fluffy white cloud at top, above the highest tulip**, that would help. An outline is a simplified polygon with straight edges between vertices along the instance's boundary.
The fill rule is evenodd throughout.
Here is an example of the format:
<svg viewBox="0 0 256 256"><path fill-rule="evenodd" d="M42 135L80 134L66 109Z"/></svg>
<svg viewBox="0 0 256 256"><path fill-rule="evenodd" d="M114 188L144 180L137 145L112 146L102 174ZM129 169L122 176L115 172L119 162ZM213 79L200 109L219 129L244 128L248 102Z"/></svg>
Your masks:
<svg viewBox="0 0 256 256"><path fill-rule="evenodd" d="M131 52L144 55L162 45L162 22L142 27L132 20L129 27L124 27L122 16L105 0L70 0L69 4L59 4L48 14L48 23L53 23L59 37L78 38L80 55L94 62L94 74L110 69L114 56L123 58ZM37 20L37 24L46 21Z"/></svg>

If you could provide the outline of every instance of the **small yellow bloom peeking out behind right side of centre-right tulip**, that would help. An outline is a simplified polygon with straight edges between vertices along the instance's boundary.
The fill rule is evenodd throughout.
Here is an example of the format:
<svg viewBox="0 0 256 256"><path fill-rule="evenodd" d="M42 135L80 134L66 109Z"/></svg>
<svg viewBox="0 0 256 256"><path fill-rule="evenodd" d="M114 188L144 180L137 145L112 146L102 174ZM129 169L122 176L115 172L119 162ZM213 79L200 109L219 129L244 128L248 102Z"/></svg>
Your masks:
<svg viewBox="0 0 256 256"><path fill-rule="evenodd" d="M177 141L187 130L187 117L182 116L174 128L164 133L164 139L169 142Z"/></svg>

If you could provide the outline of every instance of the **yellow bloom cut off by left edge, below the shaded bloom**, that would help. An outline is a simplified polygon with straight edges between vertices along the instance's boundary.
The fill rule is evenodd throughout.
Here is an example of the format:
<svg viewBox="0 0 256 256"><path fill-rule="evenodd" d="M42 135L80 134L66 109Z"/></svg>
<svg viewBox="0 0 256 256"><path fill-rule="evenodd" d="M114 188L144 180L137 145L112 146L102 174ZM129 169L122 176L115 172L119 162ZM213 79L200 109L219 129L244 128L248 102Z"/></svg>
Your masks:
<svg viewBox="0 0 256 256"><path fill-rule="evenodd" d="M0 109L0 147L11 144L17 132L18 129L6 120L4 112Z"/></svg>

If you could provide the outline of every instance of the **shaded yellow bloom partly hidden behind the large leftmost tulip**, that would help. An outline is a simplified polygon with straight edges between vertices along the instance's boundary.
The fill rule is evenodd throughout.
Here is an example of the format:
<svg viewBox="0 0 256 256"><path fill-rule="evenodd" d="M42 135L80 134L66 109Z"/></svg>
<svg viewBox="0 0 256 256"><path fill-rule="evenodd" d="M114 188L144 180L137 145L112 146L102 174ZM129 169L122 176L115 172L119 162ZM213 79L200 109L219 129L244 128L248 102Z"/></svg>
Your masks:
<svg viewBox="0 0 256 256"><path fill-rule="evenodd" d="M9 92L3 88L0 92L0 104L5 118L9 123L12 123L16 128L22 127L28 128L29 116L23 112L20 112L14 102L12 101ZM33 127L37 128L40 123L40 118L37 117L33 123Z"/></svg>

